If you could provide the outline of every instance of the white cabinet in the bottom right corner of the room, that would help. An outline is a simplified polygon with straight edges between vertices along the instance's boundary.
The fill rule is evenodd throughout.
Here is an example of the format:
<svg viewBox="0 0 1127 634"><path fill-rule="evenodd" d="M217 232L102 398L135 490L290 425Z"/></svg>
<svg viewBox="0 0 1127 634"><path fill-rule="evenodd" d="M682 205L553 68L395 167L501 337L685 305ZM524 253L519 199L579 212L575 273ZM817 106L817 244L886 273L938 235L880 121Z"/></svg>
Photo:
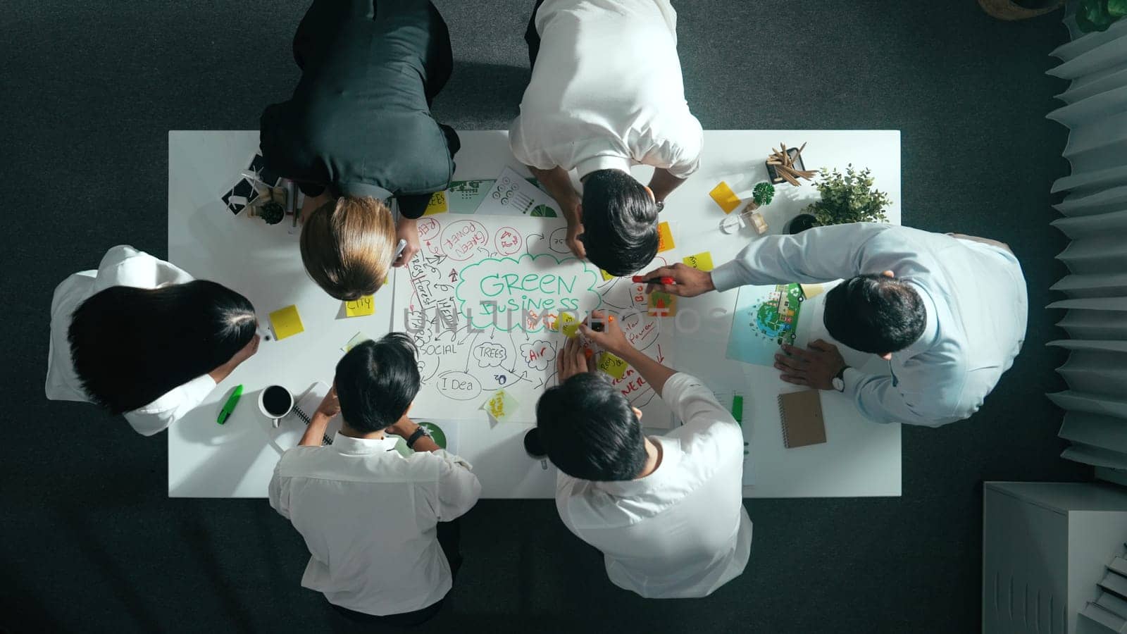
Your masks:
<svg viewBox="0 0 1127 634"><path fill-rule="evenodd" d="M1127 490L1097 483L987 482L983 632L1085 634L1079 617L1127 541ZM1098 632L1098 629L1097 629Z"/></svg>

